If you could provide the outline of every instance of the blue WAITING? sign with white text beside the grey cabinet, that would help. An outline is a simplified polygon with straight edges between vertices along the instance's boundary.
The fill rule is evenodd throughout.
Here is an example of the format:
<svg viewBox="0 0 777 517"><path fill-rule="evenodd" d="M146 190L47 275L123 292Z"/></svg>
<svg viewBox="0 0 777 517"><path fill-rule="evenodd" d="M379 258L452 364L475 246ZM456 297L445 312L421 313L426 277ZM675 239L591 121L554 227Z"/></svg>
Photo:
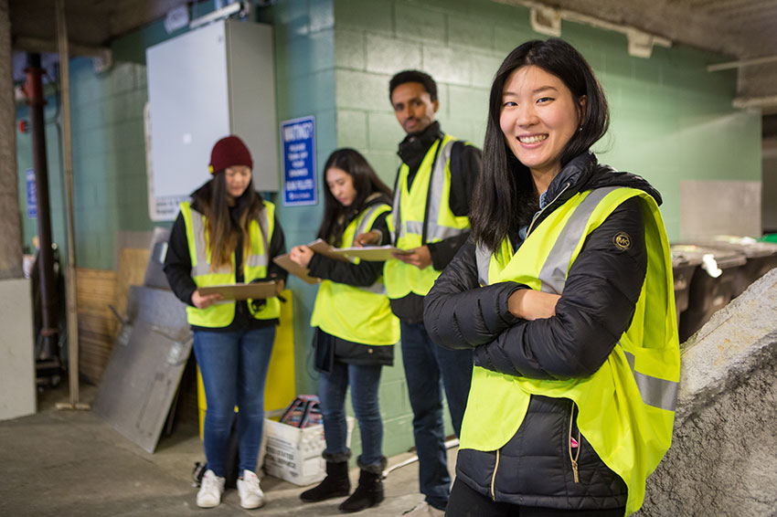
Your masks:
<svg viewBox="0 0 777 517"><path fill-rule="evenodd" d="M315 118L281 123L283 205L315 205Z"/></svg>

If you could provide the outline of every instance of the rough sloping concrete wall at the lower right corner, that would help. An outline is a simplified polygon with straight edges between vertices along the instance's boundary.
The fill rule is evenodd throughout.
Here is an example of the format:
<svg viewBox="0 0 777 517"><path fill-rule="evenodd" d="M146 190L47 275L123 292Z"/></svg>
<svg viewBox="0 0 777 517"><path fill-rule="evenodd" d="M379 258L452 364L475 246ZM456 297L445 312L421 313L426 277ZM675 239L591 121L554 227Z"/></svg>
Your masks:
<svg viewBox="0 0 777 517"><path fill-rule="evenodd" d="M672 448L639 515L773 516L777 269L683 346Z"/></svg>

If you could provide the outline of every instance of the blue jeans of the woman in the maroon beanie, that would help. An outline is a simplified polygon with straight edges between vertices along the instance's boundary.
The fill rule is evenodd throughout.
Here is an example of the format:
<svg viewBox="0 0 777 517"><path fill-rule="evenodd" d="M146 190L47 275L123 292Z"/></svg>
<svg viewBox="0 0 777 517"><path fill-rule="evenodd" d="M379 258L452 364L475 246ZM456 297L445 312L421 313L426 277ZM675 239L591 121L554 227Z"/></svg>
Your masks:
<svg viewBox="0 0 777 517"><path fill-rule="evenodd" d="M256 471L264 425L264 382L275 327L242 332L194 332L205 399L203 438L208 469L225 477L229 432L238 406L239 473Z"/></svg>

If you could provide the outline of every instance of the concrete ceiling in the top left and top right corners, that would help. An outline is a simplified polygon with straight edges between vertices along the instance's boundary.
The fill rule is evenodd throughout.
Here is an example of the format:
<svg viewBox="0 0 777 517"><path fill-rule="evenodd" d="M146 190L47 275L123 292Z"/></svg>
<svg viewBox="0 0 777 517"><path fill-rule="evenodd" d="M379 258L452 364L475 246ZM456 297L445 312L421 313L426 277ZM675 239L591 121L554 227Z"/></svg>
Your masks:
<svg viewBox="0 0 777 517"><path fill-rule="evenodd" d="M534 8L544 12L546 19L599 22L606 28L631 32L630 42L633 39L637 47L647 46L648 51L656 43L687 45L729 56L731 67L740 69L735 104L777 112L777 0L494 1ZM187 0L64 3L72 53L92 56L100 56L113 38L163 18L176 7L192 4ZM15 49L56 51L54 2L9 0L9 7ZM765 58L765 62L749 65L754 58Z"/></svg>

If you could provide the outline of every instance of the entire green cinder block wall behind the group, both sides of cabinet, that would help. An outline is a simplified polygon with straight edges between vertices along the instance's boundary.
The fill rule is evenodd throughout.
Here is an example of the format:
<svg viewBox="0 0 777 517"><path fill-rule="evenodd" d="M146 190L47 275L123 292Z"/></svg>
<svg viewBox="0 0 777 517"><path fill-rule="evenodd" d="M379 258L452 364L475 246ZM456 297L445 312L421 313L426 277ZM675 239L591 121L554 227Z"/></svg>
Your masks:
<svg viewBox="0 0 777 517"><path fill-rule="evenodd" d="M208 5L201 2L198 16ZM404 137L389 106L389 78L400 69L431 73L440 87L438 119L446 132L481 146L488 91L495 70L521 42L545 38L529 25L527 8L488 0L281 0L258 8L275 31L278 121L314 115L316 174L337 147L365 153L389 183ZM161 21L113 42L116 63L96 73L91 60L70 61L76 257L80 267L114 269L119 230L151 230L145 179L143 106L147 100L145 48L173 35ZM758 112L731 108L734 72L708 73L724 58L685 47L655 47L632 58L623 35L562 23L562 37L589 59L608 95L611 132L597 145L604 163L644 175L664 196L670 238L679 236L679 183L688 179L761 180ZM258 92L261 94L261 92ZM47 120L54 119L53 100ZM27 116L19 107L17 116ZM52 226L64 245L64 213L56 125L47 126ZM27 219L24 172L32 166L29 135L17 138L20 207L25 244L37 233ZM325 186L319 182L319 199ZM313 239L322 206L282 206L271 195L287 246ZM315 288L290 280L294 293L296 383L316 392L309 327ZM411 412L399 346L380 388L385 452L412 446ZM451 432L448 423L448 432ZM352 441L360 451L358 433Z"/></svg>

